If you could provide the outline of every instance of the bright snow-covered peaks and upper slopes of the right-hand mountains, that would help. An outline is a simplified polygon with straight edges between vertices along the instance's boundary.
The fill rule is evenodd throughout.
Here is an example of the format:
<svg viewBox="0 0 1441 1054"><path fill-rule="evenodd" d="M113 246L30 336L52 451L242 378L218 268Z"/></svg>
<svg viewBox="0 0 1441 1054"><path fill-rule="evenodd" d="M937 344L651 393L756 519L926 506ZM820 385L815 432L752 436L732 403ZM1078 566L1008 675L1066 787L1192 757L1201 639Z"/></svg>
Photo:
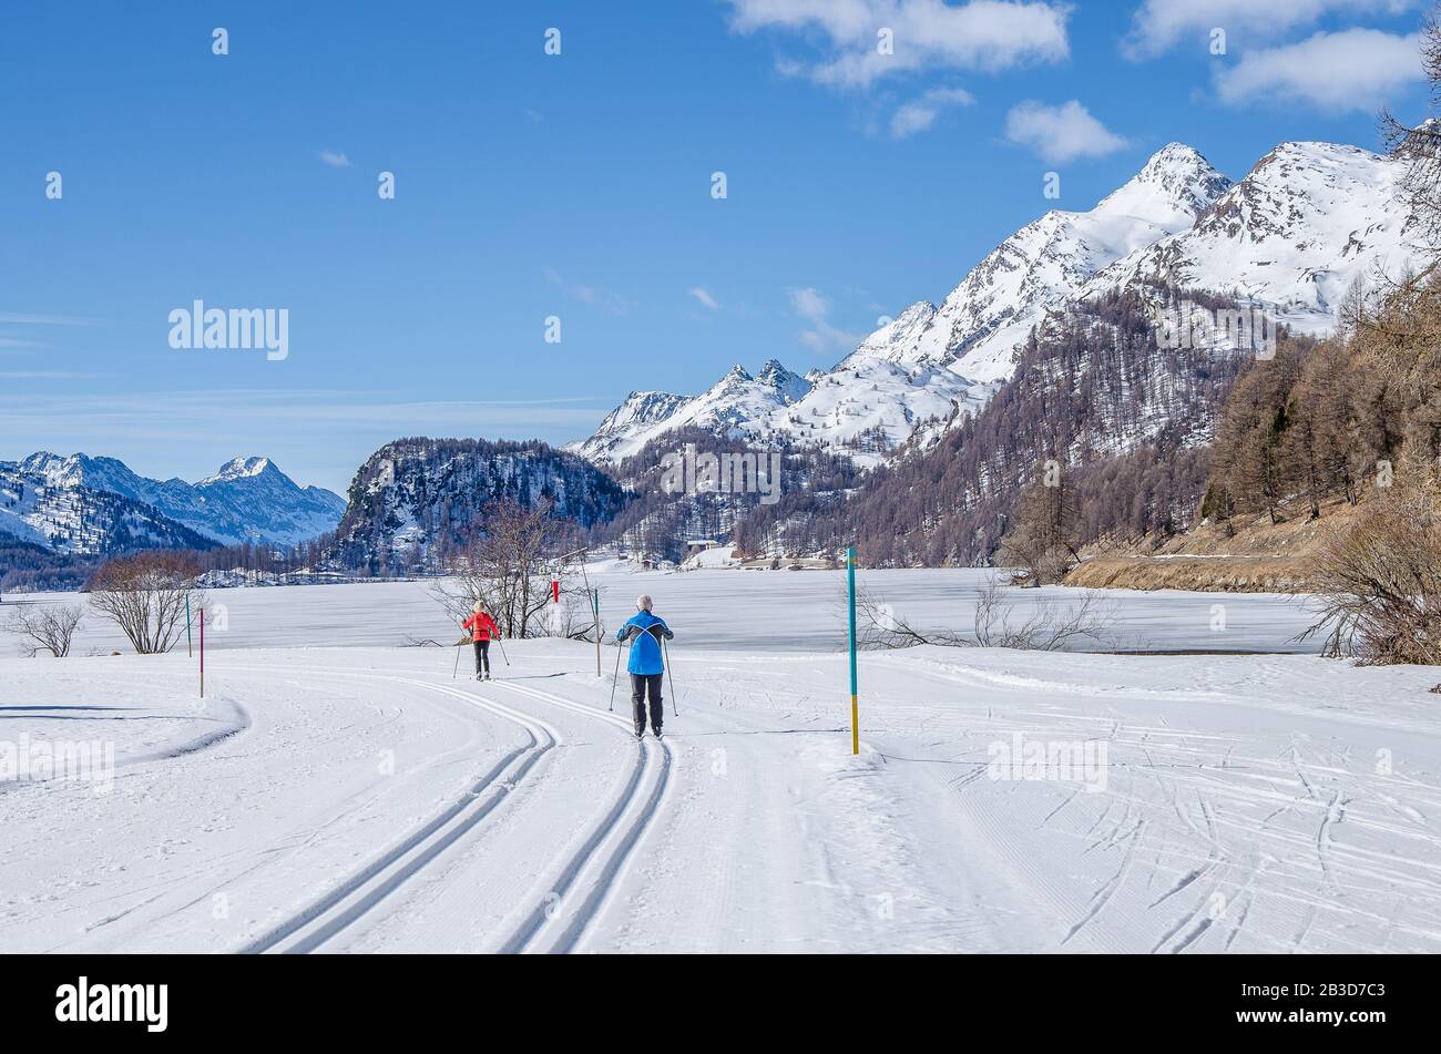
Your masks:
<svg viewBox="0 0 1441 1054"><path fill-rule="evenodd" d="M771 360L755 377L732 367L699 396L637 392L569 449L618 464L667 431L703 426L886 464L990 402L1038 325L1124 289L1213 292L1326 333L1353 282L1417 259L1395 193L1404 171L1357 147L1287 143L1232 183L1173 143L1089 212L1027 223L940 307L909 305L831 370L798 377Z"/></svg>

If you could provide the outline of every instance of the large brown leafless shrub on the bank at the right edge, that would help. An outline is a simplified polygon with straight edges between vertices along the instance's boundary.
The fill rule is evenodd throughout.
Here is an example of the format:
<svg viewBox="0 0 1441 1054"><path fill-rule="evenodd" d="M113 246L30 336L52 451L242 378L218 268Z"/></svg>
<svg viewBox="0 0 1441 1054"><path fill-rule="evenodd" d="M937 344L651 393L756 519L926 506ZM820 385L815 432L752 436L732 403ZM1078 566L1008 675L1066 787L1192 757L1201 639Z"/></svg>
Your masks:
<svg viewBox="0 0 1441 1054"><path fill-rule="evenodd" d="M1321 546L1323 654L1363 665L1441 664L1441 503L1424 485L1396 485Z"/></svg>

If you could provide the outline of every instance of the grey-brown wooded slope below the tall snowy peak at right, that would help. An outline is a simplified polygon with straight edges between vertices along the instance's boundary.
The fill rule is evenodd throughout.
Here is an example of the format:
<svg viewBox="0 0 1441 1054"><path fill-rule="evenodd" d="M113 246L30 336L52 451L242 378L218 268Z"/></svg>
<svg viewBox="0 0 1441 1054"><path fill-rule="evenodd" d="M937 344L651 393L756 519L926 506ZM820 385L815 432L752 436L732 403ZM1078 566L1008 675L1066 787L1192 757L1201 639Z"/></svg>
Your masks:
<svg viewBox="0 0 1441 1054"><path fill-rule="evenodd" d="M1156 311L1182 299L1229 305L1127 289L1052 317L980 413L846 500L788 495L757 510L739 526L742 549L856 544L869 566L984 564L1048 461L1066 472L1088 537L1186 526L1205 490L1221 407L1252 357L1229 347L1161 348Z"/></svg>

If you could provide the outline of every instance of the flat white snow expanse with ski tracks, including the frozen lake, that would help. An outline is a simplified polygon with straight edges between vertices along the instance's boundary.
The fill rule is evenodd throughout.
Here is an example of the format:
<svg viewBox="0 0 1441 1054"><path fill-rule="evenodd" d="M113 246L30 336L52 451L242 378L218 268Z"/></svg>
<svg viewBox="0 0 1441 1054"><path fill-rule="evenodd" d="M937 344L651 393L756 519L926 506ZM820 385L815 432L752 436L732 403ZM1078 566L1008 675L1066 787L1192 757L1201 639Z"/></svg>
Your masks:
<svg viewBox="0 0 1441 1054"><path fill-rule="evenodd" d="M968 622L965 573L862 577ZM0 658L0 744L114 752L0 782L0 952L1441 952L1441 670L867 652L852 757L840 580L604 576L676 626L660 743L610 648L396 647L452 639L418 585L216 593L203 704L183 648ZM1177 651L1306 622L1118 599Z"/></svg>

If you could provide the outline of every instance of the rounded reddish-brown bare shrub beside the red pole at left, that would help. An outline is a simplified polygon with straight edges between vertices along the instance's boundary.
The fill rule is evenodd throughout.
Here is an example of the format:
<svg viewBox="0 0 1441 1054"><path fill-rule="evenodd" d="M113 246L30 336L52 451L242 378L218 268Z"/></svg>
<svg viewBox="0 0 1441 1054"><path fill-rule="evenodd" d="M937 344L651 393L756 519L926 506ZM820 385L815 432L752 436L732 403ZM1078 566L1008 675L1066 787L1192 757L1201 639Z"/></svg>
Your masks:
<svg viewBox="0 0 1441 1054"><path fill-rule="evenodd" d="M91 606L120 626L141 655L170 651L186 615L206 606L200 567L182 553L138 553L107 562L91 579Z"/></svg>

